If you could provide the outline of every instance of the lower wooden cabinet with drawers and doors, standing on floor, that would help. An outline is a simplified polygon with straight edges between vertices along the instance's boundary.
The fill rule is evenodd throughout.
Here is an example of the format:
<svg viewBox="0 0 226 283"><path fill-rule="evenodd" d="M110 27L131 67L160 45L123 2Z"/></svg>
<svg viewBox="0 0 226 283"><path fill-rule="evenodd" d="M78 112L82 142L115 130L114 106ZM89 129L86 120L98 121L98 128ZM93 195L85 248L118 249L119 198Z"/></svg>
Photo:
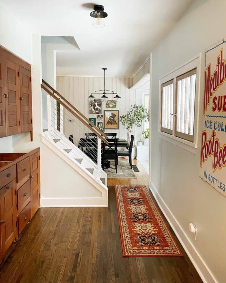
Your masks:
<svg viewBox="0 0 226 283"><path fill-rule="evenodd" d="M0 263L40 207L40 151L0 154Z"/></svg>

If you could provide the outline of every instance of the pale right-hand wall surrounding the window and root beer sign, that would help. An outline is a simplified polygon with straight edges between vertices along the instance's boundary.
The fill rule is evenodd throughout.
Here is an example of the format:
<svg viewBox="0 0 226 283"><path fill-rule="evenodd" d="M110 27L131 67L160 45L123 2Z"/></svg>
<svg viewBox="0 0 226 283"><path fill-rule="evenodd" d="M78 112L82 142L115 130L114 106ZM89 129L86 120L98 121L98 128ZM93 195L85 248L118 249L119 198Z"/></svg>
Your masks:
<svg viewBox="0 0 226 283"><path fill-rule="evenodd" d="M226 36L225 11L224 0L195 1L152 52L152 187L156 188L219 283L226 282L226 199L199 178L200 148L197 155L193 154L160 139L157 131L159 78L200 52L202 106L204 50ZM188 230L190 222L197 226L196 241ZM195 260L199 265L199 260ZM206 282L213 282L208 274L205 277Z"/></svg>

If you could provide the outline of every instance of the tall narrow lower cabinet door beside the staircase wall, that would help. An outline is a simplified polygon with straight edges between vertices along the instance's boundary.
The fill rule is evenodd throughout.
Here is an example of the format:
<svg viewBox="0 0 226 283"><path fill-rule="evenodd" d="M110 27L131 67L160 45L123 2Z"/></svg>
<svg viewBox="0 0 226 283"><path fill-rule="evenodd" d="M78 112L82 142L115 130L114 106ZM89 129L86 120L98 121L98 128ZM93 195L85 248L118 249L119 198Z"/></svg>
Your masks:
<svg viewBox="0 0 226 283"><path fill-rule="evenodd" d="M31 217L40 206L40 160L39 152L31 155Z"/></svg>

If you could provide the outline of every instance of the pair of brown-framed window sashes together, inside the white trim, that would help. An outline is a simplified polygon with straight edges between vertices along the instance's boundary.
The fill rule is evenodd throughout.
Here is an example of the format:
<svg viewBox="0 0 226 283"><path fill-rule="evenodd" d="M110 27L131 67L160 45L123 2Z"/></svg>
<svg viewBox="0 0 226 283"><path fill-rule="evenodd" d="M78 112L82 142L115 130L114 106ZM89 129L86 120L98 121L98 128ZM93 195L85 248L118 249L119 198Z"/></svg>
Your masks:
<svg viewBox="0 0 226 283"><path fill-rule="evenodd" d="M196 68L162 84L162 132L193 142L195 86Z"/></svg>

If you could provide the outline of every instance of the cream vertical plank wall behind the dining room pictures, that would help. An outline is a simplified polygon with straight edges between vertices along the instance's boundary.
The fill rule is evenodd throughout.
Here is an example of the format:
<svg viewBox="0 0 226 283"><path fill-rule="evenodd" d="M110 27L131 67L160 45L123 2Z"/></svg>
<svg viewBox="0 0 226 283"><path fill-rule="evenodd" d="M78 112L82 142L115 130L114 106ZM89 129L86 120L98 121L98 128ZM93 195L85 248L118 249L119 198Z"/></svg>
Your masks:
<svg viewBox="0 0 226 283"><path fill-rule="evenodd" d="M117 102L117 110L119 110L119 116L125 114L131 105L142 104L141 92L136 90L129 90L132 84L132 78L106 78L105 88L113 90L121 96L120 101ZM89 99L88 96L97 90L104 88L104 78L102 77L73 77L73 76L57 76L56 77L56 89L62 94L70 103L72 103L81 113L87 118L96 118L97 115L89 114ZM95 98L100 98L101 95L96 95ZM108 95L108 99L114 99L114 95ZM105 102L102 103L102 115L104 115ZM68 137L70 123L68 119L64 119L64 134ZM117 132L117 137L127 137L127 131L125 127L119 121L118 130L105 130L105 132ZM135 143L141 137L141 128L134 130ZM79 135L83 135L81 132ZM80 138L82 136L79 136Z"/></svg>

